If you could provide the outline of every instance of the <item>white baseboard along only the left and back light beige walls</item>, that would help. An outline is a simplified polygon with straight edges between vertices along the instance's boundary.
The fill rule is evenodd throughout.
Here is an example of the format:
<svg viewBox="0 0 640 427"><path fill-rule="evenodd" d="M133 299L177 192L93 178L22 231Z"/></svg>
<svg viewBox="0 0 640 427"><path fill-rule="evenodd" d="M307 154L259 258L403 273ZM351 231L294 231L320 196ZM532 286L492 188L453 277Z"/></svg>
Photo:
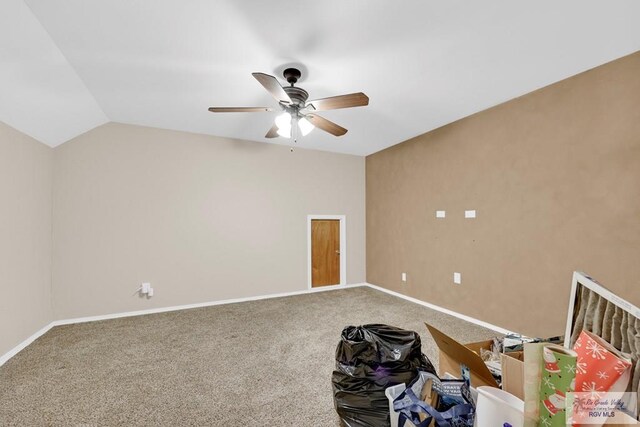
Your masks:
<svg viewBox="0 0 640 427"><path fill-rule="evenodd" d="M127 311L121 313L111 313L111 314L103 314L99 316L88 316L88 317L77 317L74 319L62 319L62 320L54 320L49 323L47 326L40 329L35 334L31 335L26 340L22 341L20 344L0 356L0 366L4 365L9 359L18 354L21 350L27 347L29 344L34 342L40 336L44 335L49 331L49 329L54 326L61 325L71 325L74 323L85 323L85 322L95 322L98 320L109 320L109 319L118 319L121 317L131 317L131 316L143 316L145 314L155 314L155 313L166 313L170 311L178 311L178 310L188 310L190 308L200 308L200 307L210 307L214 305L223 305L223 304L235 304L238 302L246 302L246 301L258 301L263 299L270 298L282 298L282 297L290 297L294 295L303 295L303 294L311 294L316 292L326 292L326 291L335 291L339 289L348 289L348 288L357 288L361 286L367 286L366 283L355 283L351 285L333 285L333 286L323 286L320 288L312 288L312 289L304 289L301 291L293 291L293 292L281 292L278 294L267 294L267 295L258 295L254 297L243 297L243 298L232 298L226 300L219 301L209 301L209 302L201 302L197 304L185 304L185 305L175 305L171 307L160 307L160 308L151 308L148 310L137 310L137 311Z"/></svg>

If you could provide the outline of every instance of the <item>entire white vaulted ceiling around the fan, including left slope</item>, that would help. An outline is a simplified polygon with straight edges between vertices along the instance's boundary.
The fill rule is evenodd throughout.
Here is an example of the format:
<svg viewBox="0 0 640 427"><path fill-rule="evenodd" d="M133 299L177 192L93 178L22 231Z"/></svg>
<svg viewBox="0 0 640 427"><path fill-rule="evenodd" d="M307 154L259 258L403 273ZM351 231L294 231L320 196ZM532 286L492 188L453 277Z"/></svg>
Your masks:
<svg viewBox="0 0 640 427"><path fill-rule="evenodd" d="M26 3L26 5L25 5ZM28 6L28 7L27 7ZM349 129L298 145L367 155L640 50L637 0L2 0L0 120L55 146L106 121L261 143L251 76L300 64ZM8 67L4 65L8 64Z"/></svg>

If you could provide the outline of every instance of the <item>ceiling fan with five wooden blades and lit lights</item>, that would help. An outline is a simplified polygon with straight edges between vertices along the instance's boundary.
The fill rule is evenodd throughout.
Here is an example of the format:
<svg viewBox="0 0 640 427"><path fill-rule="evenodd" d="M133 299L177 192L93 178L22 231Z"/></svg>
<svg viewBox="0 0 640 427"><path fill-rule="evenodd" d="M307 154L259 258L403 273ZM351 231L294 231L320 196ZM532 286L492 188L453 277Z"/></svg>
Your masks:
<svg viewBox="0 0 640 427"><path fill-rule="evenodd" d="M362 92L348 95L332 96L330 98L308 101L309 93L301 87L295 86L301 76L297 68L287 68L282 73L290 86L281 86L274 76L264 73L252 73L258 82L278 101L283 113L275 119L265 138L278 136L294 138L298 129L302 135L307 135L317 127L334 136L342 136L347 129L316 114L316 111L336 110L338 108L362 107L369 104L369 97ZM274 111L271 107L210 107L212 113L255 113Z"/></svg>

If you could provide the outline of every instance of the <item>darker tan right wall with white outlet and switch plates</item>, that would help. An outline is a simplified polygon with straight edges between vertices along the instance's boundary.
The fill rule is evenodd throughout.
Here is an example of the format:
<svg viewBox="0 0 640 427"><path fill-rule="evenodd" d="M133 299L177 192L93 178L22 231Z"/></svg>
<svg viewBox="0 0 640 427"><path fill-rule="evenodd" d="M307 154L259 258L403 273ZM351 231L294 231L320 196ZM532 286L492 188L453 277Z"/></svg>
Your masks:
<svg viewBox="0 0 640 427"><path fill-rule="evenodd" d="M531 335L564 331L574 270L640 305L640 53L373 154L366 173L370 283Z"/></svg>

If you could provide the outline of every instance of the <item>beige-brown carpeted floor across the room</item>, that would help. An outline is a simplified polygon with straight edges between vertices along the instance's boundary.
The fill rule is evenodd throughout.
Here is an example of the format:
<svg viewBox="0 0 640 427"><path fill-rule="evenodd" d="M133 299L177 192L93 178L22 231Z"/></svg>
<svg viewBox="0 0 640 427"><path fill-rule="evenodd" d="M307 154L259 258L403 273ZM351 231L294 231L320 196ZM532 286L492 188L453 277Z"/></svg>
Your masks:
<svg viewBox="0 0 640 427"><path fill-rule="evenodd" d="M370 288L53 328L0 367L1 426L337 426L331 372L347 325L495 332Z"/></svg>

